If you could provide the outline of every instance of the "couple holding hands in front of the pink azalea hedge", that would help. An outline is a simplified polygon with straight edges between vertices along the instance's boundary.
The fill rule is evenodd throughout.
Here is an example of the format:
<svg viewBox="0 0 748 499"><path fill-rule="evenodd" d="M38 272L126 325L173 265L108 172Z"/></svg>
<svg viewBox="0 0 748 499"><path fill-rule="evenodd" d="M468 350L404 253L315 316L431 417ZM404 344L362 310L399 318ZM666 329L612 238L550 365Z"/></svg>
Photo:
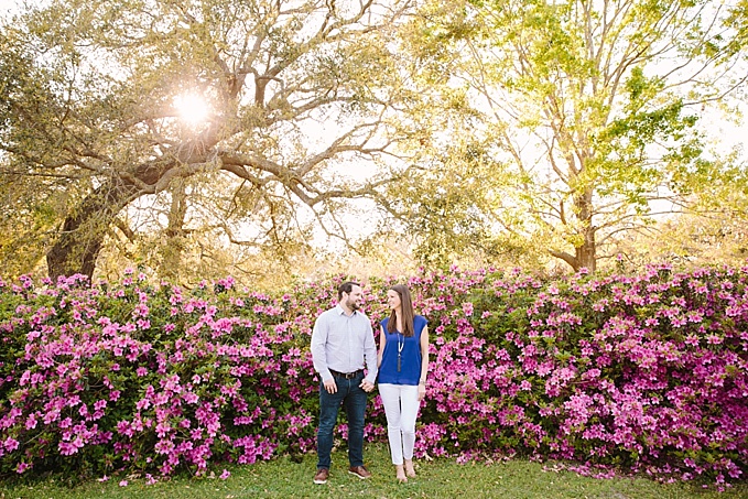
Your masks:
<svg viewBox="0 0 748 499"><path fill-rule="evenodd" d="M364 467L364 420L377 375L397 479L415 476L415 419L429 372L427 321L415 315L408 286L391 286L387 291L391 314L380 324L377 352L371 322L359 310L362 297L359 283L340 284L338 304L317 317L312 332L314 369L322 378L315 484L326 484L329 477L333 430L342 405L348 417L348 473L371 476Z"/></svg>

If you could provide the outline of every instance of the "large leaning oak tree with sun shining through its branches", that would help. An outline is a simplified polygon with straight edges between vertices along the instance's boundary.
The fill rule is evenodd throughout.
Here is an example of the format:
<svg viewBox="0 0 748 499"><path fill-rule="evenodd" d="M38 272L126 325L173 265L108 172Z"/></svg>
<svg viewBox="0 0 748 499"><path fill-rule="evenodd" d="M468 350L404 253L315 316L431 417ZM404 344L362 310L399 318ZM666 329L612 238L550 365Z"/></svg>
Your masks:
<svg viewBox="0 0 748 499"><path fill-rule="evenodd" d="M0 31L0 176L31 206L6 195L7 213L41 220L53 278L91 275L115 236L164 234L169 276L192 230L280 253L307 223L340 235L345 202L380 197L391 175L378 165L412 134L393 117L419 95L390 43L412 7L52 0L22 11ZM133 221L139 209L148 223Z"/></svg>

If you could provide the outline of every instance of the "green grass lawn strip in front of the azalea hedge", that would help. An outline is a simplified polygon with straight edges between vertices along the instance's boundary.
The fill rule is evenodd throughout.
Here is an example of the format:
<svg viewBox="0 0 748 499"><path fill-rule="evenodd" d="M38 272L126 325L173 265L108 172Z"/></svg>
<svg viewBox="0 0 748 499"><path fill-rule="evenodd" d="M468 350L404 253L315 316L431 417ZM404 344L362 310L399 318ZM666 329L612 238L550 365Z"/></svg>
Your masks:
<svg viewBox="0 0 748 499"><path fill-rule="evenodd" d="M181 476L148 485L144 479L129 478L120 487L122 477L106 482L87 482L67 488L55 480L34 484L0 485L0 498L143 498L143 499L234 499L234 498L303 498L303 497L358 497L358 498L714 498L735 499L748 497L748 482L719 493L704 490L694 484L663 485L644 478L595 479L571 471L548 471L552 464L530 463L522 459L486 465L456 464L454 459L418 462L419 476L408 484L394 480L386 445L368 445L365 449L367 467L373 474L361 480L347 473L345 451L333 454L333 469L326 485L314 485L316 455L310 454L303 463L288 457L251 466L229 466L231 476L193 478ZM223 468L216 469L219 475Z"/></svg>

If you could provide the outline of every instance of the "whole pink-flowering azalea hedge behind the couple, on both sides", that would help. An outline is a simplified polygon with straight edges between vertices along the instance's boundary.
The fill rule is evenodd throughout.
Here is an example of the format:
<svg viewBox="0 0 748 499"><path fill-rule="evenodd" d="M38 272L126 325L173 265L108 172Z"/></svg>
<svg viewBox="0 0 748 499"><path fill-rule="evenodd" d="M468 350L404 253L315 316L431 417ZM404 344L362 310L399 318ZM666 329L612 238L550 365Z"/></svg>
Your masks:
<svg viewBox="0 0 748 499"><path fill-rule="evenodd" d="M144 275L0 281L0 473L203 474L314 449L308 341L342 276L269 296ZM697 476L748 463L748 269L411 278L432 367L416 453ZM391 280L368 285L383 314ZM343 436L346 425L338 425ZM379 398L369 441L386 440Z"/></svg>

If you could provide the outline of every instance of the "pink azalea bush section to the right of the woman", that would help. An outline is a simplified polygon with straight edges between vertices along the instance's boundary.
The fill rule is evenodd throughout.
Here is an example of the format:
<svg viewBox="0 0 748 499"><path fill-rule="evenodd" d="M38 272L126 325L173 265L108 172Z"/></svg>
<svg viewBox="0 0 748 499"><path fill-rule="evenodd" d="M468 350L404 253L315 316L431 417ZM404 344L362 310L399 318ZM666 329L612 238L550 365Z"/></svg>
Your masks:
<svg viewBox="0 0 748 499"><path fill-rule="evenodd" d="M587 473L615 465L718 485L742 478L747 272L662 265L563 282L464 274L468 296L453 294L462 304L423 301L437 325L424 412L435 436L421 452L521 453L576 460ZM424 295L444 285L425 284Z"/></svg>

